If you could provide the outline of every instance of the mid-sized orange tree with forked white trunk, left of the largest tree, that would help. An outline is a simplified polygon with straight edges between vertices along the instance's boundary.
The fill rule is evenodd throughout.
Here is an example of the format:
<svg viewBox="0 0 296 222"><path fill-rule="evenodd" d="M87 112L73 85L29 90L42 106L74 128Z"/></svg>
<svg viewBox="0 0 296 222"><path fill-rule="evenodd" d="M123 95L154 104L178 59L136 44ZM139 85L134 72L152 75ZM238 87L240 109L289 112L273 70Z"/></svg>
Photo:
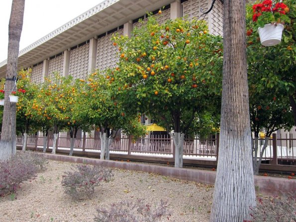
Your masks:
<svg viewBox="0 0 296 222"><path fill-rule="evenodd" d="M109 148L112 139L119 129L135 137L145 134L145 127L138 121L137 113L129 115L121 110L114 100L113 86L107 81L106 75L99 71L91 74L87 81L79 80L80 96L77 97L73 110L73 118L81 121L88 119L99 128L100 159L109 159Z"/></svg>

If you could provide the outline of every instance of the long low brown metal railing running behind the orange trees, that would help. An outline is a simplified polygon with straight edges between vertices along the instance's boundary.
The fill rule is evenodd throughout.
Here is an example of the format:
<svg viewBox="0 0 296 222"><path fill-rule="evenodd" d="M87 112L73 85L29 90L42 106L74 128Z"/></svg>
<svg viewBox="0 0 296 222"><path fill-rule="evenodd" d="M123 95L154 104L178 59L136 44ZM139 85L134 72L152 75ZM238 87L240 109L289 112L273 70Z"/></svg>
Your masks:
<svg viewBox="0 0 296 222"><path fill-rule="evenodd" d="M43 136L29 136L27 146L43 147ZM22 137L17 137L18 145L22 144ZM70 137L58 137L57 150L70 150ZM259 150L257 157L264 144L264 139L259 139ZM53 136L48 136L47 148L51 149ZM75 139L74 149L83 152L100 152L99 137L78 137ZM131 136L123 135L120 139L114 139L110 146L110 152L129 155L157 155L174 156L174 142L170 136L152 136L133 139ZM183 143L184 158L208 158L216 160L219 150L219 136L213 139L185 139ZM143 157L144 158L144 157ZM272 164L291 164L296 161L296 139L288 137L277 138L276 134L269 140L268 146L263 153L263 161Z"/></svg>

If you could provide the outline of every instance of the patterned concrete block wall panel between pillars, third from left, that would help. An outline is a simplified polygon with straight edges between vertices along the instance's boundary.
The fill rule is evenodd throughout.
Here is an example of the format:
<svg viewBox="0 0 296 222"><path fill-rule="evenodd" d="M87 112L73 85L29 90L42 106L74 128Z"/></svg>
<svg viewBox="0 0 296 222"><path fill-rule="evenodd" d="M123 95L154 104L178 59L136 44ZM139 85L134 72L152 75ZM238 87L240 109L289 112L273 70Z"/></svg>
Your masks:
<svg viewBox="0 0 296 222"><path fill-rule="evenodd" d="M69 75L74 79L84 79L88 75L89 51L90 43L71 50Z"/></svg>

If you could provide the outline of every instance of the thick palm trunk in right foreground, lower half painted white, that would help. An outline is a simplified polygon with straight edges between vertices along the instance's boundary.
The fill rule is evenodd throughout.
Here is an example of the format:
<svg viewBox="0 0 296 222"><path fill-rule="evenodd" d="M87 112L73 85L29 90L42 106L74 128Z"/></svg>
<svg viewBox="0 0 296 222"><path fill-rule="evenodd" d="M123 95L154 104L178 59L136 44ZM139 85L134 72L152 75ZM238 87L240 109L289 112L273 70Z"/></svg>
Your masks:
<svg viewBox="0 0 296 222"><path fill-rule="evenodd" d="M245 1L224 0L220 146L210 222L250 219L255 187L246 62Z"/></svg>

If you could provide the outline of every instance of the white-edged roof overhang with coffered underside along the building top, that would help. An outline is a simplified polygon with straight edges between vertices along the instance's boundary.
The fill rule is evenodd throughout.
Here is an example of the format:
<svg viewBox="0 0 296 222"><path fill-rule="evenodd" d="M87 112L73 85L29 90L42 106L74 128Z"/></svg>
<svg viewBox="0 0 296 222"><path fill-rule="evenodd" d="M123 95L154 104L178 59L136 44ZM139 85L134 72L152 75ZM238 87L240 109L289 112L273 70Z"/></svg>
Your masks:
<svg viewBox="0 0 296 222"><path fill-rule="evenodd" d="M18 69L30 67L173 1L104 0L22 49L19 52ZM5 77L6 63L7 60L0 62L0 78Z"/></svg>

